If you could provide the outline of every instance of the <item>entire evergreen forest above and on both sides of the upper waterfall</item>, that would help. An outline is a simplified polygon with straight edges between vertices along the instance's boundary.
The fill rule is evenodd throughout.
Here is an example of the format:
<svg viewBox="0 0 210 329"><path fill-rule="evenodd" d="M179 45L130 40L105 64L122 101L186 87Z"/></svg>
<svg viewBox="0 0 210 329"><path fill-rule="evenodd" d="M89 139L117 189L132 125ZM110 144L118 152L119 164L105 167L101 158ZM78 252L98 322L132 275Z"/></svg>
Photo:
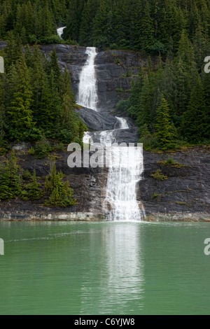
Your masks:
<svg viewBox="0 0 210 329"><path fill-rule="evenodd" d="M134 118L145 146L160 147L162 132L167 132L162 148L177 141L209 142L210 74L204 73L204 58L210 55L210 0L0 0L0 39L8 41L0 141L36 139L43 132L81 141L84 127L73 112L69 73L61 74L56 53L47 61L37 46L26 47L25 54L21 49L63 42L56 36L63 25L66 43L137 50L148 57L148 66L133 76L129 99L117 105Z"/></svg>

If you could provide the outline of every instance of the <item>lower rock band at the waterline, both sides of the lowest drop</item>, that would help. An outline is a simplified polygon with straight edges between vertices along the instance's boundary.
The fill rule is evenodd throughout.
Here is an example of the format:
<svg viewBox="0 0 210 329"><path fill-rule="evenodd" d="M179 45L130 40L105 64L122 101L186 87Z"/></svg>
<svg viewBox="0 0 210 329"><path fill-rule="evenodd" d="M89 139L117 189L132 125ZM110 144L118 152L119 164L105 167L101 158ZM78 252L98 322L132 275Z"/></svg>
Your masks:
<svg viewBox="0 0 210 329"><path fill-rule="evenodd" d="M29 146L28 146L29 147ZM69 168L67 151L57 152L57 170L67 176L78 205L69 208L43 207L41 202L11 200L1 202L1 219L60 219L102 220L106 195L107 168ZM137 200L144 205L147 219L151 221L210 221L209 169L210 148L190 148L176 153L151 153L144 151L144 174L137 186ZM181 166L165 166L162 160L172 157ZM48 158L36 159L26 150L18 151L22 168L45 178ZM151 176L157 169L167 179L159 181ZM105 218L104 218L105 219Z"/></svg>

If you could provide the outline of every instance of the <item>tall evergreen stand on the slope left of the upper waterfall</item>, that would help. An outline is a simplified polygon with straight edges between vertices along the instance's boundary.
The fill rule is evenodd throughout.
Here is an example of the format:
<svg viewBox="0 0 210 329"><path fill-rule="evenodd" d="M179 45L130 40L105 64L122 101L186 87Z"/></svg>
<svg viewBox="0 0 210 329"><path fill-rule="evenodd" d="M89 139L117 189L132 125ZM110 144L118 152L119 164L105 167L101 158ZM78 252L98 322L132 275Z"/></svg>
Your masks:
<svg viewBox="0 0 210 329"><path fill-rule="evenodd" d="M55 50L50 58L10 32L4 50L6 73L0 75L0 145L37 141L43 135L64 143L83 139L85 126L75 113L68 71L62 74Z"/></svg>

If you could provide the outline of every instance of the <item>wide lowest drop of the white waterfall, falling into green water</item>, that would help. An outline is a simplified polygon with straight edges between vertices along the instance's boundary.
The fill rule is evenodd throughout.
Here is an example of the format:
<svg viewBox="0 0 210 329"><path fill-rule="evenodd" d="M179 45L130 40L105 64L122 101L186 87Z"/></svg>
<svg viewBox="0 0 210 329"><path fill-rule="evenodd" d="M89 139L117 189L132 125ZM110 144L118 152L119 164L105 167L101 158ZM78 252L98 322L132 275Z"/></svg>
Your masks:
<svg viewBox="0 0 210 329"><path fill-rule="evenodd" d="M117 118L120 129L128 129L125 118ZM104 132L103 132L104 133ZM110 135L107 135L110 142ZM103 137L104 138L104 137ZM144 207L137 202L137 182L144 171L141 147L111 146L104 211L110 221L141 221Z"/></svg>

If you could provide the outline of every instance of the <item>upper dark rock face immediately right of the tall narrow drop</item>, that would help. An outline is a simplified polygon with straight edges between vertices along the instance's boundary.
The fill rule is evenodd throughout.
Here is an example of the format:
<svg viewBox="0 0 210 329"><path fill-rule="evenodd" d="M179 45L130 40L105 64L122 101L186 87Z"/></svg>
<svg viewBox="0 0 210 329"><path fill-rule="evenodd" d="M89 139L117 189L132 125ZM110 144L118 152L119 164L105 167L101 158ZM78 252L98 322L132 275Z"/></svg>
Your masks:
<svg viewBox="0 0 210 329"><path fill-rule="evenodd" d="M153 62L155 60L154 57ZM98 53L95 65L100 111L109 112L119 99L127 99L133 76L137 76L139 66L146 66L146 63L147 59L140 52L106 50Z"/></svg>

